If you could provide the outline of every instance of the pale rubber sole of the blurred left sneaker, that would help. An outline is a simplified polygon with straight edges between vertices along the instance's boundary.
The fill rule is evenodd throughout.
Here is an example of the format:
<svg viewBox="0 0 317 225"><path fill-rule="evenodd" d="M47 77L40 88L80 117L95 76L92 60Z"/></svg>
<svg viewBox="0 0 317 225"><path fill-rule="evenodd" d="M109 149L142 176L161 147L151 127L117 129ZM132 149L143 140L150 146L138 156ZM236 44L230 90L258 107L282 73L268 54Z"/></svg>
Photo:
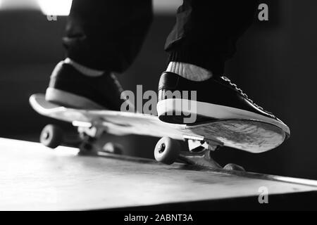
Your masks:
<svg viewBox="0 0 317 225"><path fill-rule="evenodd" d="M58 103L59 105L66 105L70 108L84 108L105 110L103 106L89 100L83 96L77 96L67 91L48 88L46 89L45 100Z"/></svg>

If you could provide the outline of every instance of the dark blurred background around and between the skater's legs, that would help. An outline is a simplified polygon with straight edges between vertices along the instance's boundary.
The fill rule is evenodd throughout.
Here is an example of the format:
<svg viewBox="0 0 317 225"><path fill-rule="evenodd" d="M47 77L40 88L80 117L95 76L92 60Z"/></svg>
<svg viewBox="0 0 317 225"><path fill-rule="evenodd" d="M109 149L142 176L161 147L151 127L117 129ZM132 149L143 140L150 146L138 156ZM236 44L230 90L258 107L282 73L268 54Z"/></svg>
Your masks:
<svg viewBox="0 0 317 225"><path fill-rule="evenodd" d="M268 2L269 21L256 22L238 42L226 75L256 103L290 126L291 138L258 155L229 148L214 154L221 164L235 162L248 171L317 179L317 1ZM120 75L125 89L156 90L166 68L165 38L172 13L156 13L134 65ZM65 17L49 22L36 10L0 11L0 136L37 141L50 119L37 115L28 97L44 92L54 65L64 58ZM63 124L70 127L70 125ZM125 153L153 158L158 139L126 136Z"/></svg>

